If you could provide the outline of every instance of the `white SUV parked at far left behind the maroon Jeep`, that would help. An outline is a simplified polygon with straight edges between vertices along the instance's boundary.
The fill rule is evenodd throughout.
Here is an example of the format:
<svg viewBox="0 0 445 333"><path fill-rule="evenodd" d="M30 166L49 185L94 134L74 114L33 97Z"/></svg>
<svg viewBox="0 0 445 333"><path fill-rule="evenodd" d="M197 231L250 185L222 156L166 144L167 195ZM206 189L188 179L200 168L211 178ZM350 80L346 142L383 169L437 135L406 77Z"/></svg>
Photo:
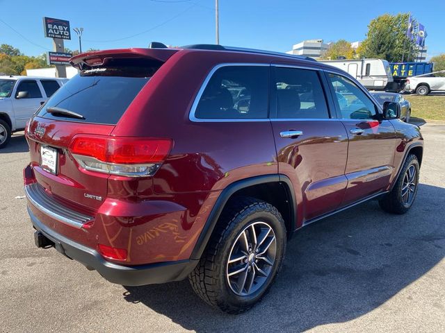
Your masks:
<svg viewBox="0 0 445 333"><path fill-rule="evenodd" d="M66 82L62 78L0 76L0 148L11 134L24 130L26 121Z"/></svg>

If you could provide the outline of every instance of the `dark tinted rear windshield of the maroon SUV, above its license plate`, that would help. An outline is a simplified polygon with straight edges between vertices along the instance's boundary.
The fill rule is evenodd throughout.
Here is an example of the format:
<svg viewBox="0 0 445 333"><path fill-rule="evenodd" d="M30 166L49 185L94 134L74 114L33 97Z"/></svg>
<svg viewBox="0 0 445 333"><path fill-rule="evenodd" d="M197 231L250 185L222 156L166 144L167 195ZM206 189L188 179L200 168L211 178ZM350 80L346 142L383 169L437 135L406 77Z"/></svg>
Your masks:
<svg viewBox="0 0 445 333"><path fill-rule="evenodd" d="M51 96L38 116L114 125L159 67L129 65L83 70ZM51 107L76 112L85 119L51 114L47 112L47 108Z"/></svg>

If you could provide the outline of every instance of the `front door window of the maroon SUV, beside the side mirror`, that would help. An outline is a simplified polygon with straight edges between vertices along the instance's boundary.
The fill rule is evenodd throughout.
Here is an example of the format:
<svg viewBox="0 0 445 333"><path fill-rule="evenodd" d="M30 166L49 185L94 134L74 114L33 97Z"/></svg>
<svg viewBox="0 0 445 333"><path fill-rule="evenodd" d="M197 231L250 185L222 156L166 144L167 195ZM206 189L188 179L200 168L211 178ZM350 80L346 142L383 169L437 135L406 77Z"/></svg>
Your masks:
<svg viewBox="0 0 445 333"><path fill-rule="evenodd" d="M328 74L334 88L341 118L343 119L372 119L375 115L375 105L368 96L343 76Z"/></svg>

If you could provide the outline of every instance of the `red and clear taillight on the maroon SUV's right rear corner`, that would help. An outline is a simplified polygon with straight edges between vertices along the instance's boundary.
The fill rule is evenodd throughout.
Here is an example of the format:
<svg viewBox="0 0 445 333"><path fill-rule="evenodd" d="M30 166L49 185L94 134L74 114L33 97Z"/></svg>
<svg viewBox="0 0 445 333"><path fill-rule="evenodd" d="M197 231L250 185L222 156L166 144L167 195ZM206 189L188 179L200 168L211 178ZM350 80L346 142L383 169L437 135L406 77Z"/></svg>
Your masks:
<svg viewBox="0 0 445 333"><path fill-rule="evenodd" d="M70 152L84 169L118 176L153 176L170 153L170 139L76 135Z"/></svg>

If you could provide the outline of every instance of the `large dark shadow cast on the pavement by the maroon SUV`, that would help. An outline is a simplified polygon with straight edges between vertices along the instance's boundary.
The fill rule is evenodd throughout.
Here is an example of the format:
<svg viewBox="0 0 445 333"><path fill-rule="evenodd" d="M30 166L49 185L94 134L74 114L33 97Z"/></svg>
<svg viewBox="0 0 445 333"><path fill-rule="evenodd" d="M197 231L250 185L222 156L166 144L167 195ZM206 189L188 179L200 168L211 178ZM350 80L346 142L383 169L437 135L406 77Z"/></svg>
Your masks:
<svg viewBox="0 0 445 333"><path fill-rule="evenodd" d="M303 228L289 241L270 293L245 314L211 309L188 281L125 287L124 298L198 332L301 332L350 321L387 302L445 257L445 224L438 214L444 206L444 188L419 185L405 215L387 214L370 201Z"/></svg>

